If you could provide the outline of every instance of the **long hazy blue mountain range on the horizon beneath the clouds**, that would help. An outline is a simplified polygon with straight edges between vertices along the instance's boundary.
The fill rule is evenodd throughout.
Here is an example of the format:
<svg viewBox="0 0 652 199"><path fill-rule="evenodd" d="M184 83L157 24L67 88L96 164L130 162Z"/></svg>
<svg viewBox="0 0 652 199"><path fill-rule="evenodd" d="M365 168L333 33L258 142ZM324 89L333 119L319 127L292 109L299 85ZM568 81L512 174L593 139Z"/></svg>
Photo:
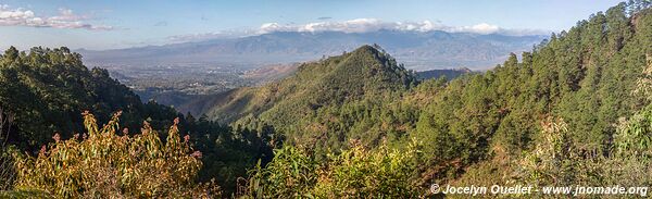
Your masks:
<svg viewBox="0 0 652 199"><path fill-rule="evenodd" d="M91 65L158 65L185 63L266 65L302 62L338 55L362 45L378 43L413 70L488 69L510 52L531 50L544 36L479 35L471 33L403 32L369 33L275 32L233 39L148 46L127 49L79 50Z"/></svg>

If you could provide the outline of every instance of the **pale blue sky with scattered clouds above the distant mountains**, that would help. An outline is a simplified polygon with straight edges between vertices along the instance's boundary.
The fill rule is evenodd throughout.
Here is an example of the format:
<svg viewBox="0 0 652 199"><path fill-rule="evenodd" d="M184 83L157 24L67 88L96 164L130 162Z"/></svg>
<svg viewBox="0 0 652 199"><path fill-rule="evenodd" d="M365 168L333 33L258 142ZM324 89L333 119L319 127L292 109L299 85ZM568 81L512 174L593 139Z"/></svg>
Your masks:
<svg viewBox="0 0 652 199"><path fill-rule="evenodd" d="M615 0L0 0L0 48L117 49L278 30L530 35L568 29Z"/></svg>

